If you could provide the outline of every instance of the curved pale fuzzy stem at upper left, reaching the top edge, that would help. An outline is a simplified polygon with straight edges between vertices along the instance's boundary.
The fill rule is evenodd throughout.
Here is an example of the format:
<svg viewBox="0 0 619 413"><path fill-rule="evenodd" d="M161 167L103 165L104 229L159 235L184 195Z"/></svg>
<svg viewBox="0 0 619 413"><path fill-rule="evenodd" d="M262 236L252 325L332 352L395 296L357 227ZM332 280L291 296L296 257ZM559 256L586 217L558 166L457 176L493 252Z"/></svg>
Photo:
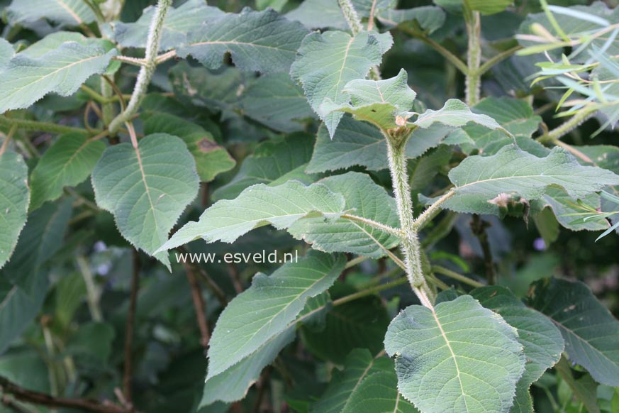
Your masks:
<svg viewBox="0 0 619 413"><path fill-rule="evenodd" d="M165 15L167 14L167 10L171 4L172 0L159 0L157 3L157 11L155 11L155 15L152 16L152 21L150 21L150 29L148 31L145 65L140 68L138 80L135 82L133 94L131 95L127 108L123 111L123 113L116 116L116 118L114 118L114 120L110 123L109 130L112 134L118 132L118 129L123 126L123 123L126 123L131 119L135 112L138 111L138 108L145 97L152 74L157 68L157 51L159 50L161 34L163 31L163 22Z"/></svg>

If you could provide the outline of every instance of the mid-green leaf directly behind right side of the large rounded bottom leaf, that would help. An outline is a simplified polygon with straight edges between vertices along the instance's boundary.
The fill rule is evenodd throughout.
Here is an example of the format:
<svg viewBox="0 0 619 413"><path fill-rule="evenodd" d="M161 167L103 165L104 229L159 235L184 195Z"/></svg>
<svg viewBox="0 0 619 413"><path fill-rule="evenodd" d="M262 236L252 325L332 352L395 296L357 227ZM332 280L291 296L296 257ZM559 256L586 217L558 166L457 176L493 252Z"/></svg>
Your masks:
<svg viewBox="0 0 619 413"><path fill-rule="evenodd" d="M505 287L480 287L473 290L471 295L484 307L501 314L510 326L518 329L518 341L523 345L527 363L523 376L516 385L511 412L533 413L529 387L561 358L564 348L561 332L543 314L525 307L525 304Z"/></svg>

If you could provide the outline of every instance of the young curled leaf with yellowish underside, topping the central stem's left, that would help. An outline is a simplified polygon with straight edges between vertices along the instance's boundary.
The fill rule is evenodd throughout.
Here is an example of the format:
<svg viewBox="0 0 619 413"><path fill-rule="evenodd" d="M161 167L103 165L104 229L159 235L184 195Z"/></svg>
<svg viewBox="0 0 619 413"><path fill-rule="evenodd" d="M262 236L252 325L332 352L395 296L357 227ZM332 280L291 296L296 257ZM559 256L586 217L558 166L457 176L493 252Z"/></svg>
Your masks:
<svg viewBox="0 0 619 413"><path fill-rule="evenodd" d="M413 89L408 87L408 75L403 69L391 79L351 80L342 92L350 95L351 104L335 104L327 97L320 105L319 112L347 112L355 119L373 123L384 131L402 126L417 96ZM401 118L399 125L396 121L398 118Z"/></svg>

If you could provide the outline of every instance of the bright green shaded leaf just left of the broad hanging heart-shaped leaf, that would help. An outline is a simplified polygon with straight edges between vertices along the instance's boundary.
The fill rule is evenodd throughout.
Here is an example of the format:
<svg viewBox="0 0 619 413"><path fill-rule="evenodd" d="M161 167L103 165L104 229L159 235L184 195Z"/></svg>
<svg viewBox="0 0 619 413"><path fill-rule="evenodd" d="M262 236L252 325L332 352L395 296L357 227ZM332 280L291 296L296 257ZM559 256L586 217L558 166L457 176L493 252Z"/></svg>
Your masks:
<svg viewBox="0 0 619 413"><path fill-rule="evenodd" d="M93 141L81 133L60 136L43 154L30 175L30 210L37 209L45 201L58 199L64 187L84 182L105 148L103 142Z"/></svg>

